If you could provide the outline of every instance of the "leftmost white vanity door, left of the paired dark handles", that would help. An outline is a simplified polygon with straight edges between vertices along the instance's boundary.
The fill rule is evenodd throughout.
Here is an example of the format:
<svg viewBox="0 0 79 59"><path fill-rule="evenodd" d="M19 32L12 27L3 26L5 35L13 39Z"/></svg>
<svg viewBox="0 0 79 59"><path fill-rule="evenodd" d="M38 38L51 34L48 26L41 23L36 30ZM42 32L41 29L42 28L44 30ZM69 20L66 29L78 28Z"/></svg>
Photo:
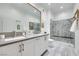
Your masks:
<svg viewBox="0 0 79 59"><path fill-rule="evenodd" d="M20 43L14 43L10 45L6 45L3 47L0 47L0 56L18 56L21 55Z"/></svg>

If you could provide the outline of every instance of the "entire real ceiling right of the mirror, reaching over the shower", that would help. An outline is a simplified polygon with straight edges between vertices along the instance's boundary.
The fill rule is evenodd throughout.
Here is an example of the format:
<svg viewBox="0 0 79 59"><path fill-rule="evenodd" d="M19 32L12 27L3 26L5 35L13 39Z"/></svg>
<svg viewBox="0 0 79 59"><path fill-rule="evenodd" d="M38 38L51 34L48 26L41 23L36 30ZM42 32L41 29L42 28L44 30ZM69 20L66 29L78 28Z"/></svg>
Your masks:
<svg viewBox="0 0 79 59"><path fill-rule="evenodd" d="M56 16L62 12L73 12L75 3L36 3L36 6L50 10L51 14Z"/></svg>

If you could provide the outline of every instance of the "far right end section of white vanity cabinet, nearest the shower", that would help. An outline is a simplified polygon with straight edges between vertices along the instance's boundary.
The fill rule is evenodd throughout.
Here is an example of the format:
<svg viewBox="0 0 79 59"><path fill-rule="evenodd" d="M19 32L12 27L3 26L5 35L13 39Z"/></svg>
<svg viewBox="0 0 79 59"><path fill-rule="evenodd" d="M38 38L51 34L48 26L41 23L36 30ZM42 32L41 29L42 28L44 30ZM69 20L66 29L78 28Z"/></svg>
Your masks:
<svg viewBox="0 0 79 59"><path fill-rule="evenodd" d="M48 36L42 36L35 39L35 55L42 55L48 47Z"/></svg>

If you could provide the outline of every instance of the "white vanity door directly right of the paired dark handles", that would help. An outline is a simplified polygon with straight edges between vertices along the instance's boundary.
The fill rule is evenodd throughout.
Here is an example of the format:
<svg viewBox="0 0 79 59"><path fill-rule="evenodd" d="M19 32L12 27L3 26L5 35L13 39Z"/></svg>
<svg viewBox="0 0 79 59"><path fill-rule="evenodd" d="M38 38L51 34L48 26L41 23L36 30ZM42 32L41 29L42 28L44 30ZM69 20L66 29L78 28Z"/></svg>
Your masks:
<svg viewBox="0 0 79 59"><path fill-rule="evenodd" d="M34 39L31 39L22 42L23 56L34 56L34 41Z"/></svg>

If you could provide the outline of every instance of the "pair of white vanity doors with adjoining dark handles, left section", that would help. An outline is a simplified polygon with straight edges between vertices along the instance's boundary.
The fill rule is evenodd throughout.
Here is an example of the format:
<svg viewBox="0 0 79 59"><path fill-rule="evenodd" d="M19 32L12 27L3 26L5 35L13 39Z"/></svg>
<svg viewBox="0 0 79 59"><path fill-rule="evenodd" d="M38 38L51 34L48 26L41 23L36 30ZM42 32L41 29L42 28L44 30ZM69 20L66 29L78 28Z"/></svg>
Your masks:
<svg viewBox="0 0 79 59"><path fill-rule="evenodd" d="M0 56L33 56L34 40L26 40L0 47Z"/></svg>

